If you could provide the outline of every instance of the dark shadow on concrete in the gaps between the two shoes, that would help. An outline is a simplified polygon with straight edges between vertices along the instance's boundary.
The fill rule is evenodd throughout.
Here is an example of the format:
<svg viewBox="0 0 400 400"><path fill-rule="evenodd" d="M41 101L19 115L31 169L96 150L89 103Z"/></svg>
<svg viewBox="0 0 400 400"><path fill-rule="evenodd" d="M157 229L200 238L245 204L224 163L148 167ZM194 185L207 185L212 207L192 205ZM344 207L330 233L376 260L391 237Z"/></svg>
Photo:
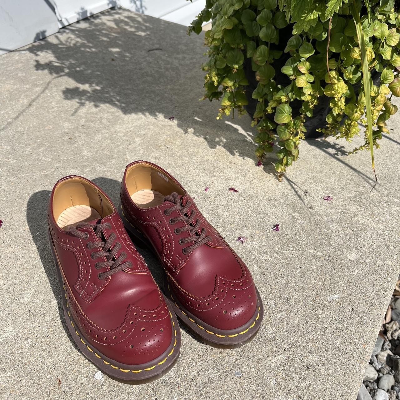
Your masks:
<svg viewBox="0 0 400 400"><path fill-rule="evenodd" d="M110 197L116 208L120 208L120 189L121 189L121 182L118 182L114 179L109 179L109 178L95 178L93 182L99 186L106 194ZM129 232L128 232L129 235ZM140 254L142 254L144 261L146 262L152 276L154 277L154 280L160 287L160 289L163 291L164 289L164 272L162 270L162 266L160 265L160 261L158 258L155 256L154 252L150 250L148 247L143 246L142 243L138 243L138 241L135 238L132 238L132 236L129 235L131 238L132 242L134 243L136 249ZM178 316L179 317L179 316ZM195 336L190 329L186 327L186 325L179 320L179 327L181 330L186 332L189 336L191 336L194 340L200 342L203 344L201 340L198 339L197 336Z"/></svg>

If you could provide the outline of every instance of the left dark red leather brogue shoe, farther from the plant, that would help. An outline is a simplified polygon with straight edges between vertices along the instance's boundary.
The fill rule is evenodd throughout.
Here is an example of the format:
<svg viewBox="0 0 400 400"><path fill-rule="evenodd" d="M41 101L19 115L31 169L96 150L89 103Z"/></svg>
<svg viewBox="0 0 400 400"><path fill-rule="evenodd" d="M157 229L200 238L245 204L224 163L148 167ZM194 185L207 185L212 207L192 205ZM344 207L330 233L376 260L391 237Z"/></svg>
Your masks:
<svg viewBox="0 0 400 400"><path fill-rule="evenodd" d="M173 308L108 196L85 178L66 176L53 188L48 220L65 318L82 353L122 381L169 370L180 350Z"/></svg>

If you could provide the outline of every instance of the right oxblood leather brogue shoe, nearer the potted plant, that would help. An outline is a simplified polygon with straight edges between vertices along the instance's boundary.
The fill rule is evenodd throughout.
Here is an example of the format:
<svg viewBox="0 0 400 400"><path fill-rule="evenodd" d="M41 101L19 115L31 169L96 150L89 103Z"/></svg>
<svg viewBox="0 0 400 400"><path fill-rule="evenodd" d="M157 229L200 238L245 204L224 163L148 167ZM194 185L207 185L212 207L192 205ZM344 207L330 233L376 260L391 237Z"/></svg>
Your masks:
<svg viewBox="0 0 400 400"><path fill-rule="evenodd" d="M121 209L128 231L160 258L174 311L203 342L238 347L256 335L263 307L248 268L168 172L129 164Z"/></svg>

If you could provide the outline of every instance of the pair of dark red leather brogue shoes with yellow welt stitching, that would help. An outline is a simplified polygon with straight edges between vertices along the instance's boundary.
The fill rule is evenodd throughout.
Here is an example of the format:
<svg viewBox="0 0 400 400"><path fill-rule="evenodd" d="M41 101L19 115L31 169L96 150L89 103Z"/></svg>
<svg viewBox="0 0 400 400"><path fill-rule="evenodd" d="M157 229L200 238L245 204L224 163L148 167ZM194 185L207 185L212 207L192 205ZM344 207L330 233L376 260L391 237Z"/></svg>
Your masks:
<svg viewBox="0 0 400 400"><path fill-rule="evenodd" d="M263 316L252 276L178 181L136 161L120 196L117 210L80 176L60 179L50 196L50 248L82 353L112 378L138 382L158 378L178 358L176 316L217 347L251 340ZM126 230L160 259L164 293Z"/></svg>

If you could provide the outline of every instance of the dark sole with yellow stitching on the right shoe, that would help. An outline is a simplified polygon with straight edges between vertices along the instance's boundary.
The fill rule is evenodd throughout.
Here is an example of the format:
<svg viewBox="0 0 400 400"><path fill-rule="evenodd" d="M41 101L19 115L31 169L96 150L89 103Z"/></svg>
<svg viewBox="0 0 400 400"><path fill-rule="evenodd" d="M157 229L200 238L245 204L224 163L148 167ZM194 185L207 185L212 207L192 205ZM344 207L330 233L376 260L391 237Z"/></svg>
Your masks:
<svg viewBox="0 0 400 400"><path fill-rule="evenodd" d="M122 206L120 207L120 214L122 221L124 222L125 228L130 234L132 240L140 241L139 246L145 246L152 250L157 256L158 254L154 251L153 246L147 240L147 238L140 232L129 220L126 218ZM161 262L161 260L160 260ZM170 290L169 278L164 272L164 293L168 298L172 300L172 308L178 318L198 337L202 342L217 348L237 348L250 342L258 333L262 318L264 316L264 307L260 294L257 291L257 306L252 318L243 326L233 330L220 330L214 328L198 319L196 316L191 314L175 297Z"/></svg>

